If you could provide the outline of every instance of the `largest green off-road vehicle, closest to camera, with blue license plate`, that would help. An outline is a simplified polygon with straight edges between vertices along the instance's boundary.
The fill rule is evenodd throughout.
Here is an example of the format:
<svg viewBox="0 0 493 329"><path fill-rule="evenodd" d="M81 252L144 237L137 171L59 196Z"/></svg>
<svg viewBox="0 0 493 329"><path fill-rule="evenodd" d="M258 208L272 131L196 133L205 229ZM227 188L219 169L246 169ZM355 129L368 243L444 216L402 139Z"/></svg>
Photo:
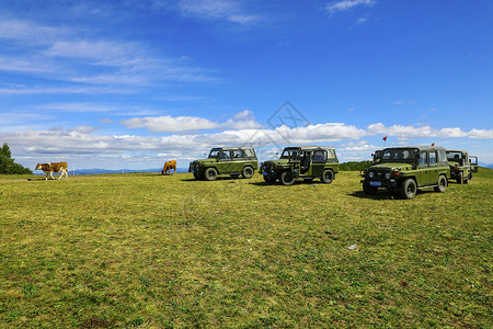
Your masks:
<svg viewBox="0 0 493 329"><path fill-rule="evenodd" d="M413 198L417 189L444 192L450 167L442 146L393 147L383 149L380 162L369 167L364 177L363 191L368 195L385 188L403 198Z"/></svg>

